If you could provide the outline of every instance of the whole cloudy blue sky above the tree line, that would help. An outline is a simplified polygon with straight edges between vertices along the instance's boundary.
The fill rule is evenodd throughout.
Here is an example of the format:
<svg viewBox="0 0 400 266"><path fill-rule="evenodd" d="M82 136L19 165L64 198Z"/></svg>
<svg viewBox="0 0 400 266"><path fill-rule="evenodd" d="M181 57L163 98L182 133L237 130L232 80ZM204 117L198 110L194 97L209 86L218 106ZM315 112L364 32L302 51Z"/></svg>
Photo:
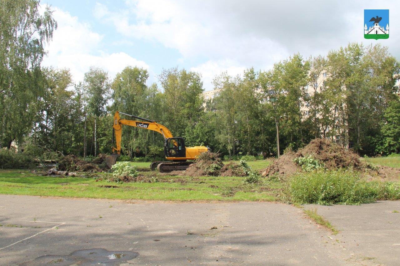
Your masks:
<svg viewBox="0 0 400 266"><path fill-rule="evenodd" d="M300 53L326 55L349 42L381 43L400 59L399 1L41 0L58 29L43 65L70 69L82 81L90 66L110 79L126 66L197 71L205 90L227 71L268 70ZM390 38L366 40L364 9L390 10ZM376 15L374 15L376 16ZM383 21L383 19L382 19ZM363 25L360 27L359 25ZM386 26L386 24L384 25Z"/></svg>

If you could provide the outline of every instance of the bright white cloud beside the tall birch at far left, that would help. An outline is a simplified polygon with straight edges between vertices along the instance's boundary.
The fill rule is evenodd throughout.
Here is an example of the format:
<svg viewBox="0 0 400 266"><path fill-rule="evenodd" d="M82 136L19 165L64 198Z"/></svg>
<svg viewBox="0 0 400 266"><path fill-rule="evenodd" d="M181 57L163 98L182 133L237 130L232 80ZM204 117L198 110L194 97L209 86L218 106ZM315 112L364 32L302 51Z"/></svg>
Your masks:
<svg viewBox="0 0 400 266"><path fill-rule="evenodd" d="M58 23L58 29L46 47L48 56L44 58L43 66L69 68L75 82L83 80L84 73L90 66L108 71L111 79L126 66L149 68L145 62L126 53L103 52L101 47L104 37L93 32L89 24L80 22L70 13L54 8L53 16Z"/></svg>

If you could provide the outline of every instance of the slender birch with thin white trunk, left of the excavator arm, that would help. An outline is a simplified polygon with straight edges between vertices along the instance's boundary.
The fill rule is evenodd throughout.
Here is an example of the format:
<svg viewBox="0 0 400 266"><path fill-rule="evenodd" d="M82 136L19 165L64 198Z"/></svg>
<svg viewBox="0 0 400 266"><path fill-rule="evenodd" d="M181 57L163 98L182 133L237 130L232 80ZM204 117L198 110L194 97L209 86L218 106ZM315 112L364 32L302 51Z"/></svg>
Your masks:
<svg viewBox="0 0 400 266"><path fill-rule="evenodd" d="M88 112L94 117L94 156L97 156L97 118L105 114L105 105L110 97L108 73L99 67L90 67L84 76Z"/></svg>

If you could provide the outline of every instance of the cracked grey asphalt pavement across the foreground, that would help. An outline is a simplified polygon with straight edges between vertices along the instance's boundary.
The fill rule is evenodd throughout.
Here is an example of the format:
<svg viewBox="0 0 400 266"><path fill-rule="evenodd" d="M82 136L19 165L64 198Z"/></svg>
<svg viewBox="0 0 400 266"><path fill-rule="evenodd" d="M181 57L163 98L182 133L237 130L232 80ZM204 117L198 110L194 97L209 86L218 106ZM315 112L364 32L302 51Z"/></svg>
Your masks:
<svg viewBox="0 0 400 266"><path fill-rule="evenodd" d="M400 201L305 208L0 195L0 265L400 265Z"/></svg>

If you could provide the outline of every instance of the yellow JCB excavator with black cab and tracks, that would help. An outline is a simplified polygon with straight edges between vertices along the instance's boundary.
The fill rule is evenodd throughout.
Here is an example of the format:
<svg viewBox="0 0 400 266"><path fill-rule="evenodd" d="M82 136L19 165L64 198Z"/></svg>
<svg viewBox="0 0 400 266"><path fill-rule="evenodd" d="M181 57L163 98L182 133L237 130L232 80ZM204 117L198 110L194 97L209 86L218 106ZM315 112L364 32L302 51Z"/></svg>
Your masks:
<svg viewBox="0 0 400 266"><path fill-rule="evenodd" d="M204 146L186 147L185 141L182 137L173 137L168 128L161 124L156 123L154 120L149 120L134 115L128 115L130 117L140 119L137 120L127 120L121 119L120 114L128 115L126 113L120 113L116 111L114 114L113 121L113 142L114 133L116 139L116 147L112 147L112 155L106 157L106 162L108 167L115 164L116 159L121 154L121 135L122 135L122 125L129 125L132 127L139 127L142 129L153 130L160 133L164 139L164 154L165 158L169 161L166 162L153 162L150 164L151 170L158 169L161 173L168 173L173 170L185 170L189 167L192 162L187 160L194 160L201 153L210 152L210 148Z"/></svg>

